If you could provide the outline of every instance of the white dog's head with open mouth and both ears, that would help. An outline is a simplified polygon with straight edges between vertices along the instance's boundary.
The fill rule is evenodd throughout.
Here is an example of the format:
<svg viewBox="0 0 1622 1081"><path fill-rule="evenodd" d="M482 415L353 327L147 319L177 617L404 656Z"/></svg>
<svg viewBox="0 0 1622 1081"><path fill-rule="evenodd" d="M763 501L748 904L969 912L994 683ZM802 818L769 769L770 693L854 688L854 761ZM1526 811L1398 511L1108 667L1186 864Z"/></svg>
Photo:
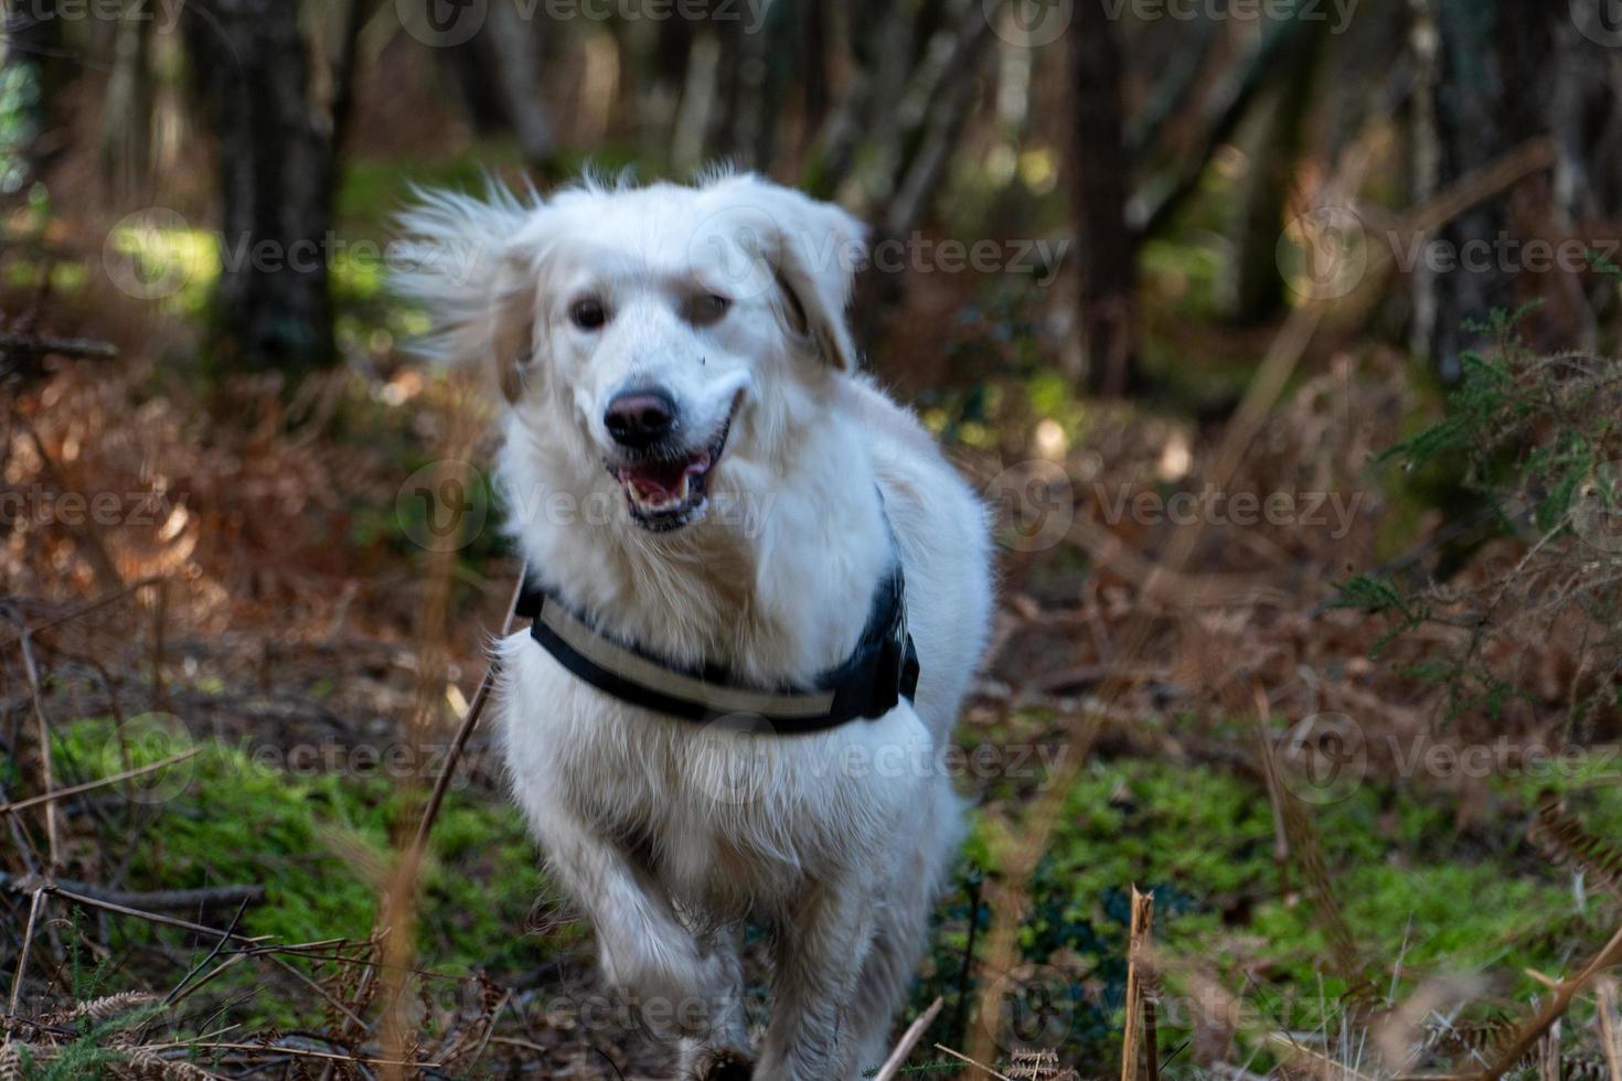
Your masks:
<svg viewBox="0 0 1622 1081"><path fill-rule="evenodd" d="M856 363L861 225L756 177L430 194L404 224L425 243L397 285L428 306L431 352L490 365L532 438L621 488L647 530L697 520L717 470L782 452Z"/></svg>

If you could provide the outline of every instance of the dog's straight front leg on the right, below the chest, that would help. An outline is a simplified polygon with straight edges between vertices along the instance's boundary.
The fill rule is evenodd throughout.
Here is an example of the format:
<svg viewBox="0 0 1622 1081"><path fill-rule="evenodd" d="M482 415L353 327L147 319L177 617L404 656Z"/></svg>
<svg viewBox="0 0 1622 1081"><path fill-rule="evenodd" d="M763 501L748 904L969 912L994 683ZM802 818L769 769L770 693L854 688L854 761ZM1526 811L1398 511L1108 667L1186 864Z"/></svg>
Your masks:
<svg viewBox="0 0 1622 1081"><path fill-rule="evenodd" d="M853 1076L853 1024L861 964L873 943L874 896L853 882L826 882L782 914L775 927L772 1024L759 1078L843 1081Z"/></svg>

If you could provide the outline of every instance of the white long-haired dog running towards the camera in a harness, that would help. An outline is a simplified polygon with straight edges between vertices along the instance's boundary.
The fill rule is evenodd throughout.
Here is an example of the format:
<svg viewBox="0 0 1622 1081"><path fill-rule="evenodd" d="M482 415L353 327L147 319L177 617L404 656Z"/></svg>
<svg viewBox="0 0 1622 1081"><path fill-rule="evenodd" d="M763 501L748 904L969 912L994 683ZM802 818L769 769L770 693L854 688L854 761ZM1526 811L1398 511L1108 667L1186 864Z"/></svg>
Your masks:
<svg viewBox="0 0 1622 1081"><path fill-rule="evenodd" d="M861 1076L962 841L938 755L993 603L981 502L858 374L861 224L712 175L420 193L402 225L425 352L504 399L543 614L495 647L498 741L602 974L683 1078ZM829 684L858 705L817 713ZM757 1055L746 921L770 927Z"/></svg>

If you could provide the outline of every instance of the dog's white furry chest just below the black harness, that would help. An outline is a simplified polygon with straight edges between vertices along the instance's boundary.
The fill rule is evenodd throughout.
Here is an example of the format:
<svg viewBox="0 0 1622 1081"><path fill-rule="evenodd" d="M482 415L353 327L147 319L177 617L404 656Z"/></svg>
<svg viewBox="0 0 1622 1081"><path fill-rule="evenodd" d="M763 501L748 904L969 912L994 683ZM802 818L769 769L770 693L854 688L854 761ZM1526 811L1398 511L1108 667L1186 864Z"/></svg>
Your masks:
<svg viewBox="0 0 1622 1081"><path fill-rule="evenodd" d="M586 823L712 911L782 901L871 859L928 765L910 708L816 736L744 736L629 707L534 642L508 664L503 744L526 812Z"/></svg>

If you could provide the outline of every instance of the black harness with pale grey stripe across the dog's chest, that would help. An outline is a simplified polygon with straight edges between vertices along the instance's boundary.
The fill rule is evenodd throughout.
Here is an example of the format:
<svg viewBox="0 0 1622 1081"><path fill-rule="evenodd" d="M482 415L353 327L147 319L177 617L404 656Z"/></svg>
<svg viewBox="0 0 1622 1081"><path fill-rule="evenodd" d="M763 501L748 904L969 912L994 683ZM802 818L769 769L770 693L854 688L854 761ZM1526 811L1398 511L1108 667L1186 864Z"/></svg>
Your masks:
<svg viewBox="0 0 1622 1081"><path fill-rule="evenodd" d="M714 664L672 664L602 634L535 575L526 575L514 611L534 621L529 632L543 650L590 686L621 702L701 724L727 718L749 729L801 736L856 718L878 720L902 699L912 702L918 689L918 652L907 634L907 582L900 564L879 580L856 648L808 687L764 689Z"/></svg>

